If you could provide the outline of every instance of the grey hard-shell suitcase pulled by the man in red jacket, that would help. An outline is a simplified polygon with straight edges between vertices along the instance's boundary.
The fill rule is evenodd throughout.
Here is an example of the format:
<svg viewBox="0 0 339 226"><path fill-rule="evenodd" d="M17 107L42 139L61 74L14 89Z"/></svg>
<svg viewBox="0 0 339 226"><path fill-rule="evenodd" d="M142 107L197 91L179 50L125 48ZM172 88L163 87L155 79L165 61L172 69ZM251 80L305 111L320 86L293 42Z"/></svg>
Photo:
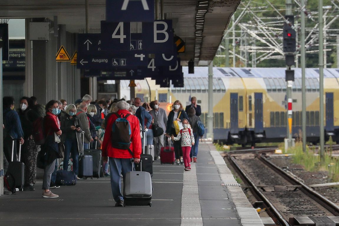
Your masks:
<svg viewBox="0 0 339 226"><path fill-rule="evenodd" d="M124 206L151 207L152 190L152 180L149 172L127 172L123 188Z"/></svg>

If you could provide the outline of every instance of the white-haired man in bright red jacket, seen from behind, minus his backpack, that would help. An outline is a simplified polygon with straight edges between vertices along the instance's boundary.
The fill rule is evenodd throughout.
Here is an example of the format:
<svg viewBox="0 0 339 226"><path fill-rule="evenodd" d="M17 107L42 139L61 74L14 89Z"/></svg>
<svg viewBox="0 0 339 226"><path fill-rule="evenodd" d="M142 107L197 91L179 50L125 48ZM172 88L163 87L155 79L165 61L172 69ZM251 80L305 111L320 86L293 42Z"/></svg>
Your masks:
<svg viewBox="0 0 339 226"><path fill-rule="evenodd" d="M129 104L125 101L119 101L116 105L118 108L118 115L125 117L127 114L130 114ZM112 114L107 116L105 119L107 121L107 126L105 130L105 136L102 143L102 156L104 157L105 162L108 161L109 157L109 167L111 170L111 188L113 198L116 201L115 206L123 206L123 196L121 194L121 179L120 175L122 174L123 178L127 172L133 170L133 165L131 159L134 158L134 163L140 162L141 154L141 138L140 138L140 125L139 120L134 115L129 115L127 120L131 127L131 145L129 149L118 149L112 146L112 126L115 123L118 116ZM132 156L132 153L133 156Z"/></svg>

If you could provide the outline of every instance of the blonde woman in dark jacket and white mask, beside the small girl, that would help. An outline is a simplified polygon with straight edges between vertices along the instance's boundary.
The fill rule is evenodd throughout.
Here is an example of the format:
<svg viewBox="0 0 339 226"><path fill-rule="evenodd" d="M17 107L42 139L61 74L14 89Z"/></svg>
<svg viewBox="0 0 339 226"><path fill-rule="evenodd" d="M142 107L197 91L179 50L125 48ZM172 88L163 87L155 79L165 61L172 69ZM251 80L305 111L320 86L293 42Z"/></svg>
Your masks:
<svg viewBox="0 0 339 226"><path fill-rule="evenodd" d="M172 110L169 112L167 117L166 136L171 137L173 135L174 137L177 137L174 121L182 123L182 120L187 118L188 116L184 111L181 102L179 100L174 101ZM173 146L177 165L184 164L184 160L182 158L181 141L173 141Z"/></svg>

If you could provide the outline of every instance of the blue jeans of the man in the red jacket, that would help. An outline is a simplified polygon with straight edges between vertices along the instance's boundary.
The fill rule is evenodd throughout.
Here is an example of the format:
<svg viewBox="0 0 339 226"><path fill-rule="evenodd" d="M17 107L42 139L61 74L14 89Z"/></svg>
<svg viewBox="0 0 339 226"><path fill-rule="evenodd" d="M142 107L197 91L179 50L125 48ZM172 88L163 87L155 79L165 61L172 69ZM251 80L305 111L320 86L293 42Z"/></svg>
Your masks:
<svg viewBox="0 0 339 226"><path fill-rule="evenodd" d="M121 194L121 177L125 179L126 173L132 171L131 159L109 158L109 169L111 170L111 188L113 198L116 202L124 200Z"/></svg>

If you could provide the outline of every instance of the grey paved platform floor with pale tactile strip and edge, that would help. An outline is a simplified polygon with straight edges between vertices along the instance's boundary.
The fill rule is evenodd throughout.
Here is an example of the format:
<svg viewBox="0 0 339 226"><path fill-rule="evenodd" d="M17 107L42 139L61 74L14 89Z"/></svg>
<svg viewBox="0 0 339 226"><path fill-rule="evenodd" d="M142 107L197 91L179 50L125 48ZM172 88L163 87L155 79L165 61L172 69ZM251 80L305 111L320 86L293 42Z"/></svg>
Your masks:
<svg viewBox="0 0 339 226"><path fill-rule="evenodd" d="M264 225L212 143L199 145L192 171L159 160L153 171L152 207L114 207L109 177L78 180L52 189L59 198L42 198L40 175L35 191L0 197L1 225Z"/></svg>

